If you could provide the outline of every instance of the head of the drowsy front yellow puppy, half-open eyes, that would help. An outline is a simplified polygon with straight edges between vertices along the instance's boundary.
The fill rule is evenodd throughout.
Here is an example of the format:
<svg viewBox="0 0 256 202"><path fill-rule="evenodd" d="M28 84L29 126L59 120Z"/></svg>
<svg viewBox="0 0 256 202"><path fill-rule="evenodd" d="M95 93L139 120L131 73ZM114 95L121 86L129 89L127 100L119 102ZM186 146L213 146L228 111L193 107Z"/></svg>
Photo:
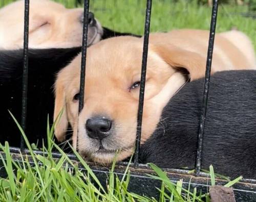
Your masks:
<svg viewBox="0 0 256 202"><path fill-rule="evenodd" d="M74 146L78 137L80 154L103 163L111 162L118 151L118 160L132 154L137 130L142 45L143 39L116 37L88 49L84 107L79 116L81 56L59 72L55 84L55 119L61 109L63 114L55 128L58 140L65 138L70 122ZM177 72L178 67L174 64L187 67L182 66L183 61L172 58L172 53L176 52L178 49L174 47L166 49L164 55L156 45L150 45L142 143L154 132L169 98L185 83L184 76ZM182 54L186 56L187 53L184 50Z"/></svg>

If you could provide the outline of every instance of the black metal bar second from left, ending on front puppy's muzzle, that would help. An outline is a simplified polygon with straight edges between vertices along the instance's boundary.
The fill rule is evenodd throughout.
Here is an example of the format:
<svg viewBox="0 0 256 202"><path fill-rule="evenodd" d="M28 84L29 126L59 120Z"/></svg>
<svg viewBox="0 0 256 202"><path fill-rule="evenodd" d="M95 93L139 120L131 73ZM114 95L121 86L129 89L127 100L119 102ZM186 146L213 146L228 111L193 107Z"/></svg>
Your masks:
<svg viewBox="0 0 256 202"><path fill-rule="evenodd" d="M81 59L81 72L80 72L80 97L79 97L79 109L80 113L83 108L84 98L84 83L86 79L86 55L87 55L87 39L88 39L88 14L89 14L89 0L84 0L83 7L83 33L82 33L82 59ZM78 129L77 129L78 130ZM78 137L77 137L78 141ZM77 144L77 142L76 142Z"/></svg>

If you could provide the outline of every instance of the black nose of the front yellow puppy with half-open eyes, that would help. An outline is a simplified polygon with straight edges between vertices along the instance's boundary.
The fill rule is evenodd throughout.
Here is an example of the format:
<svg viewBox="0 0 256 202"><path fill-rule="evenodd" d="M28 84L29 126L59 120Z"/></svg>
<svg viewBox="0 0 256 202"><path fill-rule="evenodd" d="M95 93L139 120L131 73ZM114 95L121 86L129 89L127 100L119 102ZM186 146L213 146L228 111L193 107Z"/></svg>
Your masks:
<svg viewBox="0 0 256 202"><path fill-rule="evenodd" d="M90 138L102 140L109 136L112 127L112 120L95 116L86 121L86 130Z"/></svg>

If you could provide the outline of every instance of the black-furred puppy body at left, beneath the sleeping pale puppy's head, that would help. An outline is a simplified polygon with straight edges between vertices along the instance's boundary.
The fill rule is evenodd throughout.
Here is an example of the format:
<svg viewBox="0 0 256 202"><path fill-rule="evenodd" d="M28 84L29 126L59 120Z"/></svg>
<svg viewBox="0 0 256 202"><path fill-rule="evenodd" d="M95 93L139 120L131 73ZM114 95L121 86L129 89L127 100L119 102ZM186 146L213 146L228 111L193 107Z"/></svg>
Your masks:
<svg viewBox="0 0 256 202"><path fill-rule="evenodd" d="M30 142L46 137L47 115L52 122L53 84L56 73L65 67L81 48L30 49L28 70L28 111L26 134ZM20 122L22 108L23 50L0 50L0 142L19 146L20 132L8 110ZM41 141L40 141L41 145Z"/></svg>

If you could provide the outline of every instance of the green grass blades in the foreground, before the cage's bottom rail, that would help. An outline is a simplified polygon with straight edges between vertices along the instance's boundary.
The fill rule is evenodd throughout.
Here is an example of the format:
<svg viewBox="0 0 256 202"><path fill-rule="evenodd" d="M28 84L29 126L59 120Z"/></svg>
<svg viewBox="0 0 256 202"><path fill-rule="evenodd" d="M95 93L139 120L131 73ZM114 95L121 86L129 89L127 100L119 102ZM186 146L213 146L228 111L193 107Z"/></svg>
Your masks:
<svg viewBox="0 0 256 202"><path fill-rule="evenodd" d="M129 166L122 179L119 179L114 172L115 162L103 186L89 165L73 149L79 163L86 170L82 171L78 164L70 160L54 143L52 140L54 126L50 129L49 123L47 146L42 148L47 155L34 154L20 125L15 118L14 120L30 150L30 157L21 155L22 159L19 162L15 161L10 154L8 142L5 146L0 144L0 149L4 152L4 155L0 153L0 162L2 161L3 165L1 169L7 173L6 178L0 178L0 201L157 201L155 198L129 192L127 189L130 182ZM61 153L60 159L53 158L53 148ZM156 175L148 174L148 176L162 182L161 188L156 188L160 192L159 201L209 201L208 193L199 192L198 194L196 188L193 190L189 188L190 183L188 189L184 189L183 180L174 183L168 179L166 172L154 164L149 165ZM212 166L209 174L211 185L214 186L217 175ZM230 187L241 179L242 177L239 177L224 186Z"/></svg>

